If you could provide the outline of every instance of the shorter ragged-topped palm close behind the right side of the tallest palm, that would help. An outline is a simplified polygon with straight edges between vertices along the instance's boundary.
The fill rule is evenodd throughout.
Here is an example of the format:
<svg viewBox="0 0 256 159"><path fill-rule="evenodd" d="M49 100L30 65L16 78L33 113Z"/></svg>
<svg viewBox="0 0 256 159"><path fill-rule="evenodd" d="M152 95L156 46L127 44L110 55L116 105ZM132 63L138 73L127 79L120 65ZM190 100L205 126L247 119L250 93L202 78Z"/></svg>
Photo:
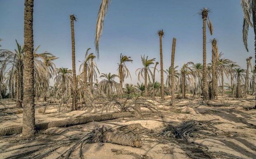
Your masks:
<svg viewBox="0 0 256 159"><path fill-rule="evenodd" d="M216 55L218 55L218 44L217 44L217 39L213 38L210 40L211 42L211 47L212 47L212 56L211 56L211 61L212 61L212 81L211 81L211 99L215 99L216 96L216 83L217 78L216 78Z"/></svg>

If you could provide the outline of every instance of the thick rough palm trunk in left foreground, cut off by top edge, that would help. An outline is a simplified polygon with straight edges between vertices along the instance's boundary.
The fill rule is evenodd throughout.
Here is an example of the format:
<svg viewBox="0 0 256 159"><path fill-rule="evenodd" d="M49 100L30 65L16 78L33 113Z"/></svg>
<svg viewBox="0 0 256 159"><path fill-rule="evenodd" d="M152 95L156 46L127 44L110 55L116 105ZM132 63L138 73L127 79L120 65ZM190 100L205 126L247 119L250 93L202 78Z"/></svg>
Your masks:
<svg viewBox="0 0 256 159"><path fill-rule="evenodd" d="M24 2L24 109L22 136L31 138L35 135L35 99L34 99L34 40L33 6L34 0Z"/></svg>

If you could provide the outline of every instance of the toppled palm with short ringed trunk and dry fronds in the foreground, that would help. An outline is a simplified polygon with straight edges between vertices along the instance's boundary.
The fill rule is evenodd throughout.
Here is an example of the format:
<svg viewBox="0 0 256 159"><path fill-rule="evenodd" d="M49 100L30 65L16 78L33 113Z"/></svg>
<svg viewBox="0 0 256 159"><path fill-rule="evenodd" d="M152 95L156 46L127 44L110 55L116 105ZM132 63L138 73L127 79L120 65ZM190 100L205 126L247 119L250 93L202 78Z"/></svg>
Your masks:
<svg viewBox="0 0 256 159"><path fill-rule="evenodd" d="M60 134L55 135L62 135L64 131L62 131ZM34 145L29 145L26 146L26 144L31 143L31 141L20 141L19 145L25 145L23 147L17 147L11 150L4 150L0 153L5 153L5 152L12 152L16 150L21 150L23 148L28 148L28 147L33 147L33 146L40 146L40 147L35 147L34 149L30 151L26 151L24 153L19 153L16 155L12 155L10 157L7 157L5 159L17 159L17 158L36 158L36 159L43 159L53 152L56 152L62 147L66 147L64 151L61 151L59 153L59 157L57 159L61 158L66 158L68 159L73 152L79 148L79 156L81 159L83 159L83 146L86 143L115 143L119 145L126 145L126 146L131 146L131 147L141 147L142 146L142 141L140 137L138 136L130 136L127 134L123 133L114 133L111 131L111 129L107 129L104 127L99 127L96 125L96 128L92 130L89 133L84 133L81 132L79 134L74 134L71 136L65 136L64 138L57 139L57 140L44 140L44 139L38 139L36 140L39 144L34 144ZM12 147L17 145L17 143L10 144L8 146ZM80 145L80 146L79 146ZM103 144L102 144L103 145ZM101 145L100 145L101 146ZM19 151L20 152L20 151Z"/></svg>

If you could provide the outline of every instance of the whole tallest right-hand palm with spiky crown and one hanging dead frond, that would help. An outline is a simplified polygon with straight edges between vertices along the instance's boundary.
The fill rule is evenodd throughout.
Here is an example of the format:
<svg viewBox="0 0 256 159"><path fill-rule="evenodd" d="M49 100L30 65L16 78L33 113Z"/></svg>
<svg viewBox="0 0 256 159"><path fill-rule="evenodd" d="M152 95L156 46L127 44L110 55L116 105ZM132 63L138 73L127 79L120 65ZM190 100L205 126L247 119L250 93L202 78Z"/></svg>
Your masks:
<svg viewBox="0 0 256 159"><path fill-rule="evenodd" d="M207 100L208 99L208 96L207 96L207 79L206 79L206 21L207 21L207 18L208 18L208 21L207 21L207 25L208 25L208 28L209 28L209 31L210 31L210 34L213 35L213 27L212 27L212 24L211 24L211 21L210 21L210 18L208 17L208 13L210 12L211 9L207 9L207 8L204 8L204 9L201 9L201 12L199 12L199 15L202 16L202 19L203 19L203 95L204 95L204 100Z"/></svg>

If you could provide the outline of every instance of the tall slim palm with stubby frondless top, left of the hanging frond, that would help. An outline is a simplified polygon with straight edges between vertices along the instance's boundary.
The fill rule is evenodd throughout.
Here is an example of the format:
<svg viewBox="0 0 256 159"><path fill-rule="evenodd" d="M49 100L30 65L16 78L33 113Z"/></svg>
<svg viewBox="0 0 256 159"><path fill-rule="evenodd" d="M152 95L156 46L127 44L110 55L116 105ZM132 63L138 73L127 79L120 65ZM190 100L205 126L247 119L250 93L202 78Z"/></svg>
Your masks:
<svg viewBox="0 0 256 159"><path fill-rule="evenodd" d="M75 31L74 31L74 21L76 17L74 14L70 15L70 25L71 25L71 44L72 44L72 72L73 72L73 106L72 111L77 109L77 100L76 100L76 56L75 56Z"/></svg>

